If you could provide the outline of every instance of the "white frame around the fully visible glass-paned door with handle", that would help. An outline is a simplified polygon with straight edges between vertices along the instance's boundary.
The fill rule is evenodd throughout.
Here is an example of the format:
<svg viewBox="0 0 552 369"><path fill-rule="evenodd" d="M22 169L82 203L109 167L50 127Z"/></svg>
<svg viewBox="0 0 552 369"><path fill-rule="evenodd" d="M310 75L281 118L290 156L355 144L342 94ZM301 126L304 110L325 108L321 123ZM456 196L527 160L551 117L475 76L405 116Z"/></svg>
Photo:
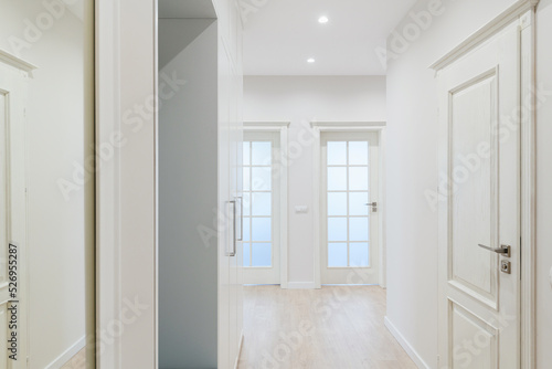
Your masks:
<svg viewBox="0 0 552 369"><path fill-rule="evenodd" d="M320 276L320 179L321 179L321 138L323 131L371 131L378 134L380 141L380 201L378 204L380 211L380 225L379 225L379 281L380 286L386 286L386 244L385 244L385 122L311 122L310 126L314 130L312 144L312 171L314 171L314 187L312 187L312 213L314 213L314 244L315 244L315 288L321 288Z"/></svg>

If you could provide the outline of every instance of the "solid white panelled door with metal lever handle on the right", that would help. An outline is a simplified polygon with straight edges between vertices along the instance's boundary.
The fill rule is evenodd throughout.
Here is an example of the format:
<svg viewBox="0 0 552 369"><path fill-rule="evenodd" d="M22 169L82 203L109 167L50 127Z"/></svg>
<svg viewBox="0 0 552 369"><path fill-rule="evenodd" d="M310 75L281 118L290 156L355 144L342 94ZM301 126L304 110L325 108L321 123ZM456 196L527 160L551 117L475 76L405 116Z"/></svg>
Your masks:
<svg viewBox="0 0 552 369"><path fill-rule="evenodd" d="M439 74L439 368L520 367L519 71L512 24Z"/></svg>

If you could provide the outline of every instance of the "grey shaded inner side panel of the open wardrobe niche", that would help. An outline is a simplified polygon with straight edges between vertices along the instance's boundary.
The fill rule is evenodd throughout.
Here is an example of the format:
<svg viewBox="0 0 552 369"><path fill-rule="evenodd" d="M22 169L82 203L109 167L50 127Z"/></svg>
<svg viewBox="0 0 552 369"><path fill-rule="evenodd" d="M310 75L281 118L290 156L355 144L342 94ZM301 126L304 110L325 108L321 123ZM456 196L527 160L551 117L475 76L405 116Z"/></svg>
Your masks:
<svg viewBox="0 0 552 369"><path fill-rule="evenodd" d="M187 81L159 112L161 369L217 366L216 236L204 243L198 232L200 226L213 228L217 204L217 23L213 22L159 20L159 59L166 61L160 73L177 73Z"/></svg>

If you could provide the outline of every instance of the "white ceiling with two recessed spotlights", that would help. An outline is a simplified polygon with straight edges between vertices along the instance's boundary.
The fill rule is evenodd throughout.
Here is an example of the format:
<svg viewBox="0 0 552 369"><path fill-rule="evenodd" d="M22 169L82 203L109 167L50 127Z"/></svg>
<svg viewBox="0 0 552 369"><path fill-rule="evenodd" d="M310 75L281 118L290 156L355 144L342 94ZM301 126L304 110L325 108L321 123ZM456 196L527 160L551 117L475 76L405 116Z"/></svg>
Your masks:
<svg viewBox="0 0 552 369"><path fill-rule="evenodd" d="M247 75L383 75L375 54L416 0L265 0L245 14ZM250 8L251 10L251 8ZM329 22L320 24L321 15ZM314 57L316 62L307 63Z"/></svg>

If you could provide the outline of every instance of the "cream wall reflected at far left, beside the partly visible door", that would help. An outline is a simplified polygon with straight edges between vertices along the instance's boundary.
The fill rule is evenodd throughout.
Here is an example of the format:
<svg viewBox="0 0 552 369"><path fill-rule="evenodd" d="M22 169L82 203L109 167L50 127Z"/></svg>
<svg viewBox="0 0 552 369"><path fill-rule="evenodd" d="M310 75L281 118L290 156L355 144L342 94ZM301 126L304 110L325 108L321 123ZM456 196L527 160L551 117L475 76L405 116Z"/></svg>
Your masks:
<svg viewBox="0 0 552 369"><path fill-rule="evenodd" d="M49 13L43 2L0 0L0 48L15 52L10 36L28 42L19 54L39 67L30 82L26 137L30 367L35 369L94 331L94 188L75 184L64 198L57 186L59 179L75 183L75 168L93 143L92 1L85 2L78 2L85 17L56 8L51 27L42 23L40 34L25 39L25 22L36 24L36 17Z"/></svg>

